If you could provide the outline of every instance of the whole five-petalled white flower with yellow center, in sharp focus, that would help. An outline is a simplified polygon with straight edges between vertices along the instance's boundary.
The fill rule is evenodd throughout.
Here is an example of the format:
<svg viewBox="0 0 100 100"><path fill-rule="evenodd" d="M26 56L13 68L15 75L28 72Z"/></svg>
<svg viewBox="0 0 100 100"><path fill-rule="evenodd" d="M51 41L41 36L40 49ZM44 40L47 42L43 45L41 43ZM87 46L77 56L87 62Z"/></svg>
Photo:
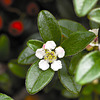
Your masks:
<svg viewBox="0 0 100 100"><path fill-rule="evenodd" d="M40 69L47 70L50 65L51 69L54 71L58 71L62 68L62 63L60 60L57 60L57 57L63 58L65 55L65 51L60 46L56 49L55 47L56 44L54 41L47 41L45 44L43 44L42 48L36 50L36 57L38 57L39 59L43 58L39 62Z"/></svg>

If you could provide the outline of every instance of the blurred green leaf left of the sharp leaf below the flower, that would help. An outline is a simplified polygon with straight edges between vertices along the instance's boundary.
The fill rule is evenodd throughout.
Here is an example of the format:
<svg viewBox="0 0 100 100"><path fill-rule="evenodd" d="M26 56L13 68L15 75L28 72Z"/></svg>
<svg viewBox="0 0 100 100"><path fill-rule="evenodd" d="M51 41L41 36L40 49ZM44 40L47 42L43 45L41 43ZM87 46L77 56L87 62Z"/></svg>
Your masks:
<svg viewBox="0 0 100 100"><path fill-rule="evenodd" d="M25 78L27 70L29 68L28 66L18 64L17 60L11 60L8 63L8 66L13 74L21 78Z"/></svg>

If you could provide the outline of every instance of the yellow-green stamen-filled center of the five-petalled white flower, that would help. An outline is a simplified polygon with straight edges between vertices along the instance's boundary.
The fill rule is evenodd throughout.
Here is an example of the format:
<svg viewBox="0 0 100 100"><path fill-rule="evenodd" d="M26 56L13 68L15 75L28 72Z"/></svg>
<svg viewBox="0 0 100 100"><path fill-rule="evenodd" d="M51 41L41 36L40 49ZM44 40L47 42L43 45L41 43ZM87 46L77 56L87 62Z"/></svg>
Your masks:
<svg viewBox="0 0 100 100"><path fill-rule="evenodd" d="M54 51L46 51L44 59L49 63L52 63L57 59L56 53Z"/></svg>

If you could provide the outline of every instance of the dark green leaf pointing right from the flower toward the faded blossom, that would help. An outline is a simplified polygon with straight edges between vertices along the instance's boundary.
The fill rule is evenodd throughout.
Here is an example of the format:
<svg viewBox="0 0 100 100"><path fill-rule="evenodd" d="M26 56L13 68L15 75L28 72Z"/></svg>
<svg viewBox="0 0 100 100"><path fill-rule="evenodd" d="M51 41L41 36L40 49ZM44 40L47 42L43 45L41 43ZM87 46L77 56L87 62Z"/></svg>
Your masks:
<svg viewBox="0 0 100 100"><path fill-rule="evenodd" d="M70 37L61 44L66 52L65 56L71 56L82 51L94 37L95 34L89 31L72 33Z"/></svg>

